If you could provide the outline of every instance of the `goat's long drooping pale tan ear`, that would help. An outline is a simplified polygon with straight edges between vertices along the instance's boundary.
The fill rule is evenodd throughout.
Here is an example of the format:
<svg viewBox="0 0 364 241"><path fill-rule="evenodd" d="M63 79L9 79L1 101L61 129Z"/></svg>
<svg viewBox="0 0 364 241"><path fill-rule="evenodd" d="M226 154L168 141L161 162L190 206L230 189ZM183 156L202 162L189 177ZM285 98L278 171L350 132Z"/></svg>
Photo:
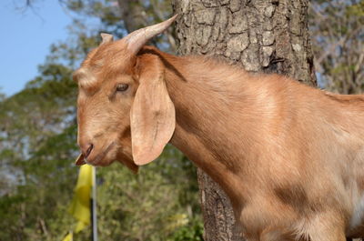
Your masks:
<svg viewBox="0 0 364 241"><path fill-rule="evenodd" d="M175 131L176 115L161 60L149 55L137 68L139 86L131 107L130 126L133 159L141 166L162 153Z"/></svg>

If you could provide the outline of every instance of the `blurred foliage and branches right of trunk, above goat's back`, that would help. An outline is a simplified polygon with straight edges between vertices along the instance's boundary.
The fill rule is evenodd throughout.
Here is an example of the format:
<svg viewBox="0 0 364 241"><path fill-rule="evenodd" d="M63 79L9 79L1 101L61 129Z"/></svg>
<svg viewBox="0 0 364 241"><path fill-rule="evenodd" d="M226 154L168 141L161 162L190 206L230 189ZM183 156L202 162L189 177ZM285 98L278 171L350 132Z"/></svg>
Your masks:
<svg viewBox="0 0 364 241"><path fill-rule="evenodd" d="M342 94L364 89L364 1L311 1L311 36L321 86Z"/></svg>

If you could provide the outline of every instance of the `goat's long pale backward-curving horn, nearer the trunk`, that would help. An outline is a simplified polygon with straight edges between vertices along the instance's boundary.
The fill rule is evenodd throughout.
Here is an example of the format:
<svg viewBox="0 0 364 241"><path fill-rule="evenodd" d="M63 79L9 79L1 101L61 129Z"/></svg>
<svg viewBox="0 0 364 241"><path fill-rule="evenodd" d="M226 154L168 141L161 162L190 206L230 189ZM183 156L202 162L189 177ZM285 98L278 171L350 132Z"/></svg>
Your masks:
<svg viewBox="0 0 364 241"><path fill-rule="evenodd" d="M134 55L136 55L139 49L143 45L145 45L147 41L149 41L149 39L161 34L167 29L168 26L172 25L173 22L176 20L177 16L178 15L174 15L166 21L157 25L151 25L138 29L124 37L122 41L127 44L127 49L131 51Z"/></svg>

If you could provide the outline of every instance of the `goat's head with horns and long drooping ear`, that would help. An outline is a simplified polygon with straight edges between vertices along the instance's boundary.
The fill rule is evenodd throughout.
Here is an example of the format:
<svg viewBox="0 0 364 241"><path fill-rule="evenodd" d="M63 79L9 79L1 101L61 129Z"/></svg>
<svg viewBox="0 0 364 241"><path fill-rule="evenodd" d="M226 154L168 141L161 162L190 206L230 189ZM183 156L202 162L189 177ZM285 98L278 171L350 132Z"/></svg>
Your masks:
<svg viewBox="0 0 364 241"><path fill-rule="evenodd" d="M161 62L136 55L177 15L113 41L103 41L74 73L78 83L77 142L86 162L107 166L120 161L136 171L157 158L175 129L175 109L167 93Z"/></svg>

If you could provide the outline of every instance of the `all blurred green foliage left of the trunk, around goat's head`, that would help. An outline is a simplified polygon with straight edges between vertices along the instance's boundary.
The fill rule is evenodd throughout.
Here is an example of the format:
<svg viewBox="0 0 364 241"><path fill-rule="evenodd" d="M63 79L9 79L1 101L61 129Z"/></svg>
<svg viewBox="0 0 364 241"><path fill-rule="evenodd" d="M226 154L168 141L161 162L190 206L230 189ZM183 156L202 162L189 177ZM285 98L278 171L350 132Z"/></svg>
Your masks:
<svg viewBox="0 0 364 241"><path fill-rule="evenodd" d="M147 1L132 4L154 11ZM116 1L61 5L75 15L70 35L51 46L24 90L0 96L0 240L61 240L75 224L67 211L78 170L72 72L101 31L126 35ZM169 15L162 7L158 11ZM164 38L154 44L170 46ZM167 146L137 176L118 164L97 170L100 240L202 240L196 170L175 148ZM75 240L89 235L86 230Z"/></svg>

